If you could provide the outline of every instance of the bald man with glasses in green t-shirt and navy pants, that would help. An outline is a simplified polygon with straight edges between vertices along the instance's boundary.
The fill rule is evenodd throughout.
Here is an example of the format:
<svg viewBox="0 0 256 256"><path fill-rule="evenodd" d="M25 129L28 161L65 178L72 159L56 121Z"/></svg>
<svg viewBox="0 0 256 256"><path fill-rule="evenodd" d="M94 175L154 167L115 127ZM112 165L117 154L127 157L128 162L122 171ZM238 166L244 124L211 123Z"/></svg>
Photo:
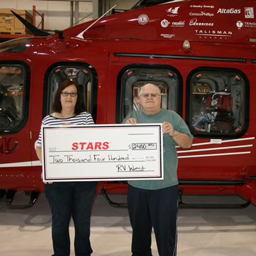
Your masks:
<svg viewBox="0 0 256 256"><path fill-rule="evenodd" d="M132 226L132 256L152 256L151 232L154 227L160 256L177 253L178 179L176 145L190 148L193 136L174 111L161 109L161 92L145 84L139 93L141 111L133 111L126 124L163 123L164 179L131 180L128 211Z"/></svg>

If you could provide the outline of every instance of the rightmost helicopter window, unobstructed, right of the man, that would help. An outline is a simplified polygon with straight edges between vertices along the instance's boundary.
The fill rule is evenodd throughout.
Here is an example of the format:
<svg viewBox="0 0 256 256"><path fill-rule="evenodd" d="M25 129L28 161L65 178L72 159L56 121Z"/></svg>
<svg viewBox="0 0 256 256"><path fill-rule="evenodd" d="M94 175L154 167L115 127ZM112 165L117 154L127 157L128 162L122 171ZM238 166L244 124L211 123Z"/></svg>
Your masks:
<svg viewBox="0 0 256 256"><path fill-rule="evenodd" d="M238 70L195 72L188 81L191 131L198 136L241 135L246 120L246 81Z"/></svg>

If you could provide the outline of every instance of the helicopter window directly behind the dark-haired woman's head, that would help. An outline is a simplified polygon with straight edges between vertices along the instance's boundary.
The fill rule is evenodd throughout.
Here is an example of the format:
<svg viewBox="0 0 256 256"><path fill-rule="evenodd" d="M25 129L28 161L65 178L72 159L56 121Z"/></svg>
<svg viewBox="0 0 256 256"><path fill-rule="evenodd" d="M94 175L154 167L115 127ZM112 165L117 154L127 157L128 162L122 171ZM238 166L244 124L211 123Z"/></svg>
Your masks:
<svg viewBox="0 0 256 256"><path fill-rule="evenodd" d="M53 112L52 104L54 102L55 93L57 92L60 83L67 79L75 81L79 85L83 97L84 109L92 113L95 91L93 92L92 90L93 76L91 70L86 67L58 66L51 71L49 76L47 114Z"/></svg>

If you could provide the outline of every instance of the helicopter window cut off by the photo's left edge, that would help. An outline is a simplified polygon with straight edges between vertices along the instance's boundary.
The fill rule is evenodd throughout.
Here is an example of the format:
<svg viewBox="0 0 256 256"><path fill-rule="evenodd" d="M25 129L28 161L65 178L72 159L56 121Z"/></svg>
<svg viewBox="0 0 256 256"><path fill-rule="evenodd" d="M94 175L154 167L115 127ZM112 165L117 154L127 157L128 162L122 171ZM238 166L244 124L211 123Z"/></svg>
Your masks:
<svg viewBox="0 0 256 256"><path fill-rule="evenodd" d="M0 131L13 130L22 122L24 79L21 66L0 66Z"/></svg>

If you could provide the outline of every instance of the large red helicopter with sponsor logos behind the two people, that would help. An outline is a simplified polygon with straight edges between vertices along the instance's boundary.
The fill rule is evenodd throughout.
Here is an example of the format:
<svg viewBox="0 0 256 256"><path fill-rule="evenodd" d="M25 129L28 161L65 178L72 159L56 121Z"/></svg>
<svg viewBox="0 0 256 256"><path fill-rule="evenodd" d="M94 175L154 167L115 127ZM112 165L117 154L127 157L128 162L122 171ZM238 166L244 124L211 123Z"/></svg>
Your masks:
<svg viewBox="0 0 256 256"><path fill-rule="evenodd" d="M96 124L120 124L140 109L148 82L162 108L195 136L179 156L180 207L256 204L256 5L254 0L139 1L131 10L57 33L0 44L0 191L10 207L33 205L42 166L34 143L65 79L76 81ZM29 26L29 24L27 24ZM30 200L13 205L15 191ZM99 182L99 193L127 193ZM244 204L189 204L182 195L237 195Z"/></svg>

